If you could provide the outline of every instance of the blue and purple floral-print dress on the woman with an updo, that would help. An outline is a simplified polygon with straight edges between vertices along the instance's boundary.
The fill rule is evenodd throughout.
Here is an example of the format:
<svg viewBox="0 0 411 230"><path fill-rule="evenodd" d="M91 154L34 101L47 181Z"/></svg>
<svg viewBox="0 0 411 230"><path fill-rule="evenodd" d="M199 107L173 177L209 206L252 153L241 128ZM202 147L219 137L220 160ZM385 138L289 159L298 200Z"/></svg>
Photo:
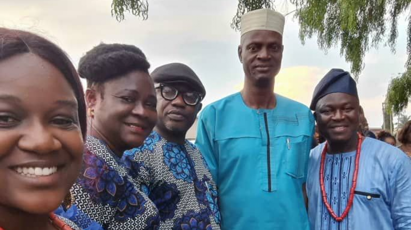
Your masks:
<svg viewBox="0 0 411 230"><path fill-rule="evenodd" d="M125 165L101 140L88 136L83 168L71 189L74 205L56 214L84 230L158 230L155 204L131 177Z"/></svg>

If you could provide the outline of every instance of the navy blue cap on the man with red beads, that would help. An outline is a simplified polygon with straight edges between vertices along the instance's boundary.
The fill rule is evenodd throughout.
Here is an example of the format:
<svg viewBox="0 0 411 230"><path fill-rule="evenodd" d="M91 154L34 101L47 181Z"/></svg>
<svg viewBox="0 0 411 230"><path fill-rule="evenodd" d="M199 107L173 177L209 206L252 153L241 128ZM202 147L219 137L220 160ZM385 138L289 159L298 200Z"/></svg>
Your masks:
<svg viewBox="0 0 411 230"><path fill-rule="evenodd" d="M315 87L309 108L315 110L319 99L330 93L346 93L358 98L357 83L349 72L331 69Z"/></svg>

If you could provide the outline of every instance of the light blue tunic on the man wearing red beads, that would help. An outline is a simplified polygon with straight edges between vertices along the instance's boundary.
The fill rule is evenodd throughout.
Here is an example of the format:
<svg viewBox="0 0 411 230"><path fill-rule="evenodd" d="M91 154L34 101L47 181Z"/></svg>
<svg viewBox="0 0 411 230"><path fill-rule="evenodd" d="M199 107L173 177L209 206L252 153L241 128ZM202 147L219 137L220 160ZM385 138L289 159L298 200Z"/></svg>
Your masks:
<svg viewBox="0 0 411 230"><path fill-rule="evenodd" d="M309 158L311 230L411 230L411 161L401 150L365 138L353 206L342 222L336 222L321 198L319 170L323 148L324 143L314 148ZM326 155L324 186L337 216L341 216L348 202L355 158L356 151Z"/></svg>

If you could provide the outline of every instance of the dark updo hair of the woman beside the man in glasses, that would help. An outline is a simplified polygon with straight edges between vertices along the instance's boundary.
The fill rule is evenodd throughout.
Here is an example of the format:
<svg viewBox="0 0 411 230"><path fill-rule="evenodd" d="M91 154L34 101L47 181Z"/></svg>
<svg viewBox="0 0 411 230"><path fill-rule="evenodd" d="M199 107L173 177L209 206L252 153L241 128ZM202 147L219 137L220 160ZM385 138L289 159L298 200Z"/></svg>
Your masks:
<svg viewBox="0 0 411 230"><path fill-rule="evenodd" d="M87 87L119 78L131 71L148 73L150 64L144 53L132 45L99 44L88 51L79 62L79 75L87 79Z"/></svg>

